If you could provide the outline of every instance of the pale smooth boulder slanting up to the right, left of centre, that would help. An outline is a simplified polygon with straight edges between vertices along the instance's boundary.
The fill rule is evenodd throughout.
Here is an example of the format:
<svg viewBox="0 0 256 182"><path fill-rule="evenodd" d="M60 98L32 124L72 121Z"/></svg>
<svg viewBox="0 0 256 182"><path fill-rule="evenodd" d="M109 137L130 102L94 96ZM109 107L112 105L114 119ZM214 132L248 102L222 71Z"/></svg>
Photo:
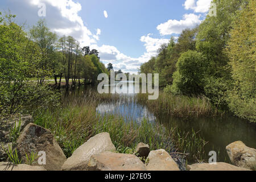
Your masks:
<svg viewBox="0 0 256 182"><path fill-rule="evenodd" d="M115 151L115 146L108 133L97 134L77 148L61 169L64 171L86 171L90 157L105 151Z"/></svg>

